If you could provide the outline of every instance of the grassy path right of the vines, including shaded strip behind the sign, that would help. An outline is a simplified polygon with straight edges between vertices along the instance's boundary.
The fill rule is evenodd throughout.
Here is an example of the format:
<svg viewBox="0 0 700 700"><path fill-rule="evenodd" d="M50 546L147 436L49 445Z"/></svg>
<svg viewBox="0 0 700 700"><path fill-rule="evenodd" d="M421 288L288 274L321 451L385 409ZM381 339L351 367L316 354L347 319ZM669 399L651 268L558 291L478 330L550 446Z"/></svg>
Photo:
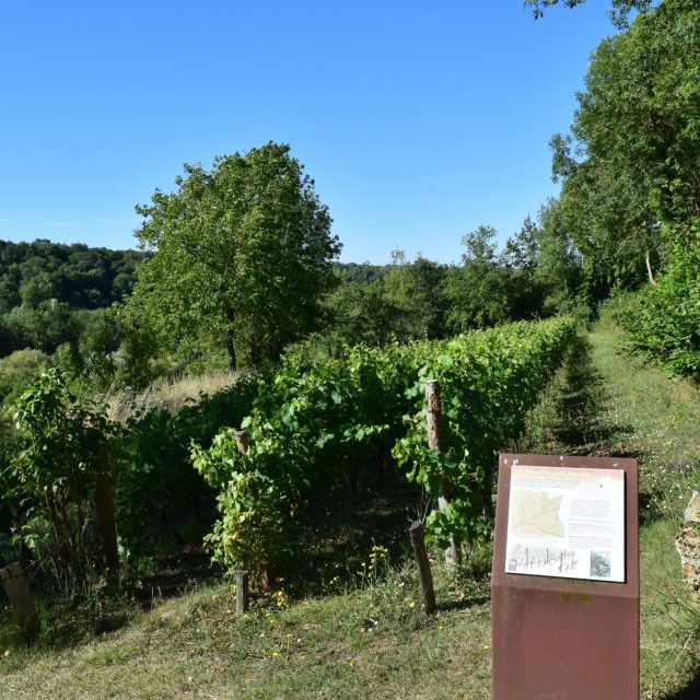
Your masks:
<svg viewBox="0 0 700 700"><path fill-rule="evenodd" d="M700 610L674 537L700 485L698 390L620 352L603 322L547 392L523 448L639 458L642 698L697 700Z"/></svg>

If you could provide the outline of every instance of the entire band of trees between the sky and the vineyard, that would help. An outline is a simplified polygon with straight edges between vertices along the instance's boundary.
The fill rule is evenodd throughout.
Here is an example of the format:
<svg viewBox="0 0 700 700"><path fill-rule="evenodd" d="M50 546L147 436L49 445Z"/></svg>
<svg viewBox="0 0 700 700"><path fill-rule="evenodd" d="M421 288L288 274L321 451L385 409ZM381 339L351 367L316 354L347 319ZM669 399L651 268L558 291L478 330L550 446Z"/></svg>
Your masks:
<svg viewBox="0 0 700 700"><path fill-rule="evenodd" d="M618 14L632 7L614 4ZM485 225L464 236L458 265L400 250L388 266L338 265L313 180L289 145L270 142L210 171L186 165L176 191L138 207L149 254L0 244L0 355L59 350L94 386L140 386L159 374L261 368L299 342L336 353L590 315L641 289L620 315L632 342L697 373L700 8L639 9L594 51L570 132L551 140L559 197L502 249ZM124 308L101 312L127 293Z"/></svg>

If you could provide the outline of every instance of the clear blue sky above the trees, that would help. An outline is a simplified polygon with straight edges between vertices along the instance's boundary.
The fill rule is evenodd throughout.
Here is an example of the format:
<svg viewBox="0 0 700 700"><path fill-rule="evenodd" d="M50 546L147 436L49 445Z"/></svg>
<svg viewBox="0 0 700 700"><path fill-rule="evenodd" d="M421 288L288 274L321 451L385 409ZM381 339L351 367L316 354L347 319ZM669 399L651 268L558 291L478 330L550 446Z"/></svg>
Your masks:
<svg viewBox="0 0 700 700"><path fill-rule="evenodd" d="M137 203L273 140L316 180L346 261L458 260L557 192L608 2L5 2L0 238L135 247Z"/></svg>

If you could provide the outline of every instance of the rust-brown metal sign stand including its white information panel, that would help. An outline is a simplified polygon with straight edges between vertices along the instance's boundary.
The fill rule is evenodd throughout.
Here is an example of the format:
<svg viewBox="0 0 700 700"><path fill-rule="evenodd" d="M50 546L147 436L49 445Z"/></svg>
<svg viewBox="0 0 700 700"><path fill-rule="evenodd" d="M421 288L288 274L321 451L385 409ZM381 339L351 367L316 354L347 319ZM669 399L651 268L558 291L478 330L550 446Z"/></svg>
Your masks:
<svg viewBox="0 0 700 700"><path fill-rule="evenodd" d="M637 459L501 455L493 700L639 700Z"/></svg>

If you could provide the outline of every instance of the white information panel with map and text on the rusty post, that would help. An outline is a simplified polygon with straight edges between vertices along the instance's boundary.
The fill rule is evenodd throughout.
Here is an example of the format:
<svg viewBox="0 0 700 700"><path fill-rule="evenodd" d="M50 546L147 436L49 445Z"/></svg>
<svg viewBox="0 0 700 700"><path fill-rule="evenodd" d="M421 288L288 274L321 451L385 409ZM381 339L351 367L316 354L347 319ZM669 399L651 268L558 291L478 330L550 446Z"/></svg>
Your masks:
<svg viewBox="0 0 700 700"><path fill-rule="evenodd" d="M514 464L505 571L625 582L625 471Z"/></svg>

